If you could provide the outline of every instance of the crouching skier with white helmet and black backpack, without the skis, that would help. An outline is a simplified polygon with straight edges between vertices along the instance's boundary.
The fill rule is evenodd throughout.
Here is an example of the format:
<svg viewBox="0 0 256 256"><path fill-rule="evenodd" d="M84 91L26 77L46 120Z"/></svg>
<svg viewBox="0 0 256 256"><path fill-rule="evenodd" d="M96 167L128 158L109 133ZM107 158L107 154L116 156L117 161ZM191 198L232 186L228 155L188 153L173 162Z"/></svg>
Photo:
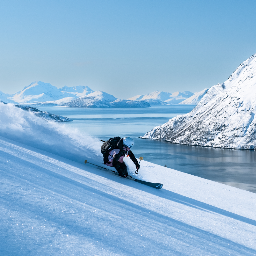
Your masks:
<svg viewBox="0 0 256 256"><path fill-rule="evenodd" d="M101 153L103 154L104 164L113 166L117 170L119 176L127 177L127 166L123 160L125 155L129 156L134 162L136 169L140 169L140 165L135 158L133 152L130 150L134 145L134 141L130 137L114 137L104 142L101 146Z"/></svg>

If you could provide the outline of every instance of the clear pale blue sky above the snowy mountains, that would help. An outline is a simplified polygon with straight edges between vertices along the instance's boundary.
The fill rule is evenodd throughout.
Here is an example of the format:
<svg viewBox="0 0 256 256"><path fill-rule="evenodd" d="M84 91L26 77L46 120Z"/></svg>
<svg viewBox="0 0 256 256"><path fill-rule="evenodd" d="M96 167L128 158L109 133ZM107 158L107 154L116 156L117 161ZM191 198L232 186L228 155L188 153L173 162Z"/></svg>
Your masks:
<svg viewBox="0 0 256 256"><path fill-rule="evenodd" d="M256 52L256 1L0 2L0 90L201 91Z"/></svg>

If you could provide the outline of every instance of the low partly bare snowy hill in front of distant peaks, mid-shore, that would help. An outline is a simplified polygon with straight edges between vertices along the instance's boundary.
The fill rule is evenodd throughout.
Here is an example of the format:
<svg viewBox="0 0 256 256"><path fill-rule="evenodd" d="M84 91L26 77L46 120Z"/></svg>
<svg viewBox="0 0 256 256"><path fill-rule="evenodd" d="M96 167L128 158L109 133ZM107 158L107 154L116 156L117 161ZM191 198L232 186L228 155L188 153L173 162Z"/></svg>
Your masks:
<svg viewBox="0 0 256 256"><path fill-rule="evenodd" d="M66 107L150 107L143 100L117 99L104 91L95 91L84 97L62 104Z"/></svg>

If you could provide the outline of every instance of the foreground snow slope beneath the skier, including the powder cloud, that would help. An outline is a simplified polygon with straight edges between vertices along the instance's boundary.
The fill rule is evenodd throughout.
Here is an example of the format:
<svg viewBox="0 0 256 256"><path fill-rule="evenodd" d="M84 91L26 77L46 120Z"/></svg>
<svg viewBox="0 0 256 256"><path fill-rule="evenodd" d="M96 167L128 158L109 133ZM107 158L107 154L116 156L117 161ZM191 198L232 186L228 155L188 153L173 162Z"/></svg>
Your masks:
<svg viewBox="0 0 256 256"><path fill-rule="evenodd" d="M0 111L0 255L256 254L256 194L142 161L147 187L83 164L99 139Z"/></svg>

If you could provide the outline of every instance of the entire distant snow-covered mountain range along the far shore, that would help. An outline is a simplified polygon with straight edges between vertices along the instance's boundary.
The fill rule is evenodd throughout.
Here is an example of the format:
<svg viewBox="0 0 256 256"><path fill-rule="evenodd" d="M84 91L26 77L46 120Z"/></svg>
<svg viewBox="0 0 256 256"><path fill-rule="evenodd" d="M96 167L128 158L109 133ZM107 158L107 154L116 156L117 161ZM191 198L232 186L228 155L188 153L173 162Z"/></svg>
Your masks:
<svg viewBox="0 0 256 256"><path fill-rule="evenodd" d="M90 96L85 97L87 95ZM126 100L117 99L106 92L98 91L94 93L88 86L63 86L58 89L49 83L36 81L14 94L4 94L0 91L0 97L4 102L35 106L150 107L150 105L170 105L179 103L197 104L201 99L201 94L195 97L194 93L190 91L176 91L174 93L154 91L148 94L137 95ZM186 103L183 102L187 99L189 100L186 101Z"/></svg>

